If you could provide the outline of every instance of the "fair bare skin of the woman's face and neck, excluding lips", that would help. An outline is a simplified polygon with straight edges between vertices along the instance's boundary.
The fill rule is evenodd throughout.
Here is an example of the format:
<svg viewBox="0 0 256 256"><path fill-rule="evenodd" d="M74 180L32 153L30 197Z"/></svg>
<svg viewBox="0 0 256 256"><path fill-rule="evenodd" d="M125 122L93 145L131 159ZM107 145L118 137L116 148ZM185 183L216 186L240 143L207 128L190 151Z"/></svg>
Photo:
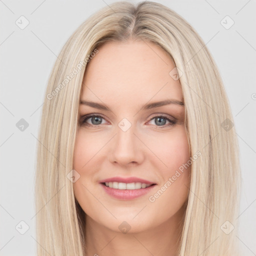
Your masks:
<svg viewBox="0 0 256 256"><path fill-rule="evenodd" d="M98 50L86 66L80 100L103 103L111 111L79 105L73 158L80 175L73 183L74 194L86 219L86 255L177 255L190 166L155 201L148 197L166 187L166 181L189 160L184 106L139 111L155 101L183 102L179 81L169 75L174 64L152 42L107 42ZM102 119L84 121L88 114ZM157 121L160 114L175 123L170 125L166 117ZM131 123L125 132L118 126L124 117ZM156 186L135 199L116 199L98 183L114 176L136 176ZM127 233L118 228L123 221L130 226Z"/></svg>

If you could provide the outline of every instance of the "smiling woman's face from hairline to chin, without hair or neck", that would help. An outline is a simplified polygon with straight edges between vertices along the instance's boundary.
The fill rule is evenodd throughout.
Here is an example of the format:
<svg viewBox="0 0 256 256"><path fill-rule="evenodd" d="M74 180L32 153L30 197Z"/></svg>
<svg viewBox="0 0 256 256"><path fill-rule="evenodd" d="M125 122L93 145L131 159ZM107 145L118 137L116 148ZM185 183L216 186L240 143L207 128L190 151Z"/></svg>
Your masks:
<svg viewBox="0 0 256 256"><path fill-rule="evenodd" d="M80 96L75 197L101 226L149 230L181 215L187 199L190 166L182 164L190 155L181 87L171 58L151 42L108 42L98 50L86 66Z"/></svg>

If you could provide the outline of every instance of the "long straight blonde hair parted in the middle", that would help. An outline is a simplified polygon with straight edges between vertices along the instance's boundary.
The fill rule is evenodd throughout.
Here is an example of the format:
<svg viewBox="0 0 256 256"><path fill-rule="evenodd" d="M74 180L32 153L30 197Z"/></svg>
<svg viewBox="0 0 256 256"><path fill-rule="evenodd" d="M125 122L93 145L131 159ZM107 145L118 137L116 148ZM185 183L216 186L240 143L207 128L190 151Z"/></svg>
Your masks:
<svg viewBox="0 0 256 256"><path fill-rule="evenodd" d="M97 47L106 41L130 39L151 41L174 61L183 93L190 154L201 152L191 164L179 255L236 255L238 146L220 75L195 30L173 10L151 1L136 5L122 1L101 8L74 31L56 59L38 137L37 253L84 255L84 212L68 178L83 74Z"/></svg>

